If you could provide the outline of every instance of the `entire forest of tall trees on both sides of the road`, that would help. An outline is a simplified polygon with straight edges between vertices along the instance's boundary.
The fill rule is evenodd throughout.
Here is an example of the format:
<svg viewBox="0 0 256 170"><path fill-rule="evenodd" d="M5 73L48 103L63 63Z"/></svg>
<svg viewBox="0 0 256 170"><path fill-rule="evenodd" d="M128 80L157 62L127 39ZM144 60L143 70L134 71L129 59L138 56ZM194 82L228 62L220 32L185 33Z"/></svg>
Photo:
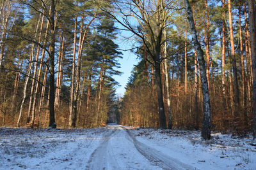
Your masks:
<svg viewBox="0 0 256 170"><path fill-rule="evenodd" d="M255 138L255 1L0 3L1 126L118 122ZM140 61L118 97L122 31Z"/></svg>

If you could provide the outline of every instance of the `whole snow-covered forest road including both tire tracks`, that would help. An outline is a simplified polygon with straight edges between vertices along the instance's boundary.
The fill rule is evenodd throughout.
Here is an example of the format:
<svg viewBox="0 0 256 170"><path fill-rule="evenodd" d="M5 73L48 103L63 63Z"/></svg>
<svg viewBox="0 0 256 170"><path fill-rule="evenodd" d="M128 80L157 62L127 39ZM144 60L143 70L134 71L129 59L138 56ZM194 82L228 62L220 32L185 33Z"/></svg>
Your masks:
<svg viewBox="0 0 256 170"><path fill-rule="evenodd" d="M122 125L92 153L87 169L195 169L137 141Z"/></svg>

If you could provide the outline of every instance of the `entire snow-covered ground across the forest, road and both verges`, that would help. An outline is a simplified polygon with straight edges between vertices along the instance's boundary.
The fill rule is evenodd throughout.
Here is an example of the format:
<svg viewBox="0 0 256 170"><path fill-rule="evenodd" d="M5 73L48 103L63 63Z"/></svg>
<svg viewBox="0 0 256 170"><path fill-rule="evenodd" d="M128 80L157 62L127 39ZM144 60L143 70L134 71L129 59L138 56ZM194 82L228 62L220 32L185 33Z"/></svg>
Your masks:
<svg viewBox="0 0 256 170"><path fill-rule="evenodd" d="M0 128L0 169L256 169L252 136L199 131Z"/></svg>

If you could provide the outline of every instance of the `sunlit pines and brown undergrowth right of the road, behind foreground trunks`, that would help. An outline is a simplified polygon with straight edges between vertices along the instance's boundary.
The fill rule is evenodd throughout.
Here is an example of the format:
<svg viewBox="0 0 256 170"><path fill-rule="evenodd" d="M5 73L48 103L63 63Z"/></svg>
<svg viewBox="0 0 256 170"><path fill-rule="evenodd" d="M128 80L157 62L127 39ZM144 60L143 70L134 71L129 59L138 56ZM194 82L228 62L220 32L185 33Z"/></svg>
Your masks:
<svg viewBox="0 0 256 170"><path fill-rule="evenodd" d="M165 17L168 17L166 11L169 10L170 13L172 8L172 14L169 14L172 17L163 19L166 27L162 28L159 50L165 122L178 129L201 129L204 117L202 72L200 73L197 49L195 50L194 42L191 41L193 33L188 11L181 10L185 6L184 1L157 2L159 6L155 4L154 8L161 9ZM253 4L255 5L254 2ZM196 36L204 51L211 103L210 125L215 130L238 134L252 132L255 118L253 47L248 4L246 1L202 0L191 1L189 5ZM142 13L148 13L147 4L136 8L144 9ZM159 18L161 20L161 16ZM152 23L150 26L154 27ZM148 39L140 41L137 54L141 60L134 67L127 84L120 122L140 127L159 127L156 62L148 52L147 43Z"/></svg>

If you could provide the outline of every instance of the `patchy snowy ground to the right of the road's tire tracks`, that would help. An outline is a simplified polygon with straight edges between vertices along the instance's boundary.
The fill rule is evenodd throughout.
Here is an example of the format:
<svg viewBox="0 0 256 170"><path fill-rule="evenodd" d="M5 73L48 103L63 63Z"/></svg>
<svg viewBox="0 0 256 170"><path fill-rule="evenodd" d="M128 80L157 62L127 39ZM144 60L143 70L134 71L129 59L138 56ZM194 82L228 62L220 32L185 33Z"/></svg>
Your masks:
<svg viewBox="0 0 256 170"><path fill-rule="evenodd" d="M211 134L202 141L199 131L138 129L141 143L156 148L195 169L256 169L256 142L230 134Z"/></svg>

